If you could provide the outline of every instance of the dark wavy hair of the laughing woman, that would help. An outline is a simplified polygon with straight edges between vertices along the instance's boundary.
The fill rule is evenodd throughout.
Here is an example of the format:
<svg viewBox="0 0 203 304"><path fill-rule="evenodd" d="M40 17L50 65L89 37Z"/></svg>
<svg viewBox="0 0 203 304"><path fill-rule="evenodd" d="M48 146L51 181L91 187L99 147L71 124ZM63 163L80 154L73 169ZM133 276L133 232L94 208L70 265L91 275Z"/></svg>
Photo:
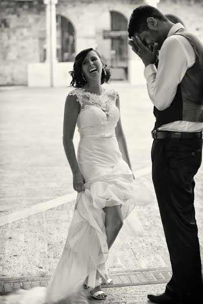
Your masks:
<svg viewBox="0 0 203 304"><path fill-rule="evenodd" d="M104 68L101 72L101 85L109 82L111 78L110 66L107 66L106 62L101 58L101 55L97 51L92 48L89 48L81 51L75 58L73 70L69 72L73 78L71 82L71 87L82 88L87 83L82 77L82 63L90 51L94 51L104 65Z"/></svg>

